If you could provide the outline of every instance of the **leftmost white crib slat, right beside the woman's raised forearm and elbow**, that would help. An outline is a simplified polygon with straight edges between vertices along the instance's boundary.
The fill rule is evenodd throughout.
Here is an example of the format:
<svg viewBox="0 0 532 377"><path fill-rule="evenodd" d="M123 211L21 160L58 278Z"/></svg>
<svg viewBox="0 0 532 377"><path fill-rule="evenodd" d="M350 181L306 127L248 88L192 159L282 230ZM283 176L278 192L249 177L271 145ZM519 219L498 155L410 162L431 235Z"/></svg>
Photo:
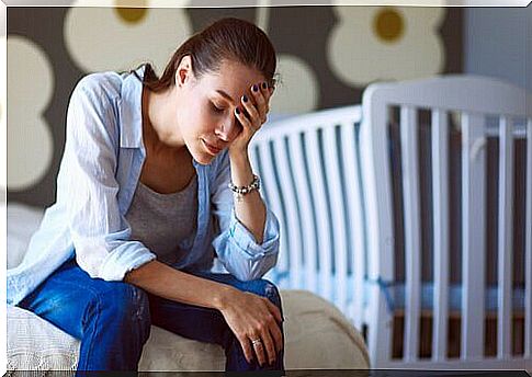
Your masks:
<svg viewBox="0 0 532 377"><path fill-rule="evenodd" d="M271 210L275 214L279 219L280 227L281 227L281 235L284 235L286 231L286 220L285 214L283 212L283 206L281 205L281 191L279 184L275 179L273 161L271 159L270 153L270 142L261 142L259 145L260 158L261 158L261 167L262 167L262 185L264 186L265 191L268 192L268 199L269 204L271 205ZM288 271L288 240L287 237L280 237L280 251L279 251L279 260L276 264L276 269L280 272ZM284 287L283 284L280 287Z"/></svg>

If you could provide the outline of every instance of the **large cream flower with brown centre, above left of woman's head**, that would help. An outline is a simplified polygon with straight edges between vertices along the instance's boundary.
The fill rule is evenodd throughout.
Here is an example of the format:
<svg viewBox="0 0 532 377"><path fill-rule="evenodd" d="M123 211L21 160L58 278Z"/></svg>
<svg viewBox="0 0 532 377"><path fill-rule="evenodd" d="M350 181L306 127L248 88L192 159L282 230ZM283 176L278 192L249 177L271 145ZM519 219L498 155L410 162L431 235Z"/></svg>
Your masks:
<svg viewBox="0 0 532 377"><path fill-rule="evenodd" d="M114 1L107 2L115 5ZM104 8L104 2L101 8L77 5L65 18L65 43L72 59L87 72L125 71L145 61L162 72L176 47L192 34L182 8Z"/></svg>

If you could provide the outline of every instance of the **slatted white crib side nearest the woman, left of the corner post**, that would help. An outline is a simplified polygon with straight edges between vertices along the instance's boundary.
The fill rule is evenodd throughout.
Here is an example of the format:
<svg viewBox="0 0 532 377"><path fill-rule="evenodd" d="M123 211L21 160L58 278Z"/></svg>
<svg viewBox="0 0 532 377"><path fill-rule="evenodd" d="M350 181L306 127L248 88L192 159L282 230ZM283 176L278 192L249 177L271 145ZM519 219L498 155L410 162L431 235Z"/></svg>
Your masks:
<svg viewBox="0 0 532 377"><path fill-rule="evenodd" d="M267 277L319 294L359 327L365 263L360 121L360 106L346 106L271 122L250 146L281 225L280 261Z"/></svg>

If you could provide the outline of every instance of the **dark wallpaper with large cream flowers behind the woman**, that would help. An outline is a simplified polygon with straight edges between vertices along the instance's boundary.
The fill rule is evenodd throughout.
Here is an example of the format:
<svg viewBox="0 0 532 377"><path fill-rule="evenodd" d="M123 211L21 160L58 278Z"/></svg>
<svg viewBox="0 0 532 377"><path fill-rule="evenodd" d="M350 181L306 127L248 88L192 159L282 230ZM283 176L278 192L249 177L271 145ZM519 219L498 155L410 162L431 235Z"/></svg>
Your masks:
<svg viewBox="0 0 532 377"><path fill-rule="evenodd" d="M68 99L82 76L144 61L161 72L191 33L228 15L256 22L278 50L272 114L360 103L377 80L462 72L459 8L8 8L8 199L54 202Z"/></svg>

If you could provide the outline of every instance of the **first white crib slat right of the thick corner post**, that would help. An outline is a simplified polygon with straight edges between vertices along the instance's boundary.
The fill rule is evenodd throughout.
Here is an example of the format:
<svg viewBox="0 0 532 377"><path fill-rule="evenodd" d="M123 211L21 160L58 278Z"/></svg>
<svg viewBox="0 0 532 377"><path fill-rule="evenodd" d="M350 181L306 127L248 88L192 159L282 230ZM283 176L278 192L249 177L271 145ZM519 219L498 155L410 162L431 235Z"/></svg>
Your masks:
<svg viewBox="0 0 532 377"><path fill-rule="evenodd" d="M416 361L419 350L419 312L421 297L421 236L420 191L418 163L418 122L414 107L400 108L400 146L403 162L403 197L405 204L405 355L406 361Z"/></svg>

